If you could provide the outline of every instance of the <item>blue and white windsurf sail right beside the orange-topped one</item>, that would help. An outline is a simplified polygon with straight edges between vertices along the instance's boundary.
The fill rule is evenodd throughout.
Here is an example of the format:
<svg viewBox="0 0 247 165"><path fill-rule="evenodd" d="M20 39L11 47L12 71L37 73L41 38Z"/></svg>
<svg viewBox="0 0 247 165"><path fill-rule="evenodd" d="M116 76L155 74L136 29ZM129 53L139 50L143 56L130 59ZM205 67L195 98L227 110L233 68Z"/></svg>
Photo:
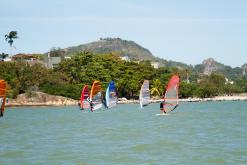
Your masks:
<svg viewBox="0 0 247 165"><path fill-rule="evenodd" d="M111 81L106 89L105 101L107 108L112 108L117 105L117 92L114 81Z"/></svg>

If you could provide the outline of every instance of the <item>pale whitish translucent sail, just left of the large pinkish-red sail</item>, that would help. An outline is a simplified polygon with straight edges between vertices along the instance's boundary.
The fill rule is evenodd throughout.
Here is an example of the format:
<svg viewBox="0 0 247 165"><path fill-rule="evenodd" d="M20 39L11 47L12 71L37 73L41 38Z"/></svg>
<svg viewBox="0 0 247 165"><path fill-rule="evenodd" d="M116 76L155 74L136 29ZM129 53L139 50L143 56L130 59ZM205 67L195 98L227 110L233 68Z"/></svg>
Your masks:
<svg viewBox="0 0 247 165"><path fill-rule="evenodd" d="M143 106L146 106L150 103L150 91L149 91L149 81L144 80L141 90L140 90L140 95L139 95L139 101L140 101L140 106L143 108Z"/></svg>

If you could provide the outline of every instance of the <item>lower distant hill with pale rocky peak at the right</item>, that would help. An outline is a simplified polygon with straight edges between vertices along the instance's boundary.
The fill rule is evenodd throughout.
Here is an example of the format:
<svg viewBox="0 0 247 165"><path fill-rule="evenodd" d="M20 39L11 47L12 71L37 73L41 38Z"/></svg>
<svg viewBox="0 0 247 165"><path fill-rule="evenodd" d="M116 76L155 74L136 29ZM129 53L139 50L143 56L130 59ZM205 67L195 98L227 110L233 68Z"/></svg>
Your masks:
<svg viewBox="0 0 247 165"><path fill-rule="evenodd" d="M202 62L202 64L198 64L194 67L194 70L197 73L210 75L211 73L222 73L226 77L235 79L241 76L245 76L245 69L247 71L247 65L243 65L242 67L232 68L230 66L221 64L215 61L213 58L208 58Z"/></svg>

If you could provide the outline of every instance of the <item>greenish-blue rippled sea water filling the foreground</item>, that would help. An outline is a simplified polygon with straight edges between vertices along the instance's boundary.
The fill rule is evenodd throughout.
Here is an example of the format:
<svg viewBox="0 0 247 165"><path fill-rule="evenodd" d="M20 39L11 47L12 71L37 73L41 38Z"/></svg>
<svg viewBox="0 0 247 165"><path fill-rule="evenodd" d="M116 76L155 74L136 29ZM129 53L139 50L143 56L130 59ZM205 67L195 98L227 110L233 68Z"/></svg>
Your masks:
<svg viewBox="0 0 247 165"><path fill-rule="evenodd" d="M247 164L247 101L6 108L0 164Z"/></svg>

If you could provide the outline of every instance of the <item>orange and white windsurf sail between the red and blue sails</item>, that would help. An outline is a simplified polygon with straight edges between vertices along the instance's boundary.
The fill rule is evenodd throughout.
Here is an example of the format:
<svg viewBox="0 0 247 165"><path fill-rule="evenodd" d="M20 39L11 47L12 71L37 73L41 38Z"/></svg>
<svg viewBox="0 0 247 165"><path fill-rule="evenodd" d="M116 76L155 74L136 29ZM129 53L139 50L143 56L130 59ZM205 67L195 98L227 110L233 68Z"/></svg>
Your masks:
<svg viewBox="0 0 247 165"><path fill-rule="evenodd" d="M91 111L95 111L97 109L102 108L101 91L101 82L94 81L90 92L90 101L92 101L93 103L93 109L91 109Z"/></svg>

